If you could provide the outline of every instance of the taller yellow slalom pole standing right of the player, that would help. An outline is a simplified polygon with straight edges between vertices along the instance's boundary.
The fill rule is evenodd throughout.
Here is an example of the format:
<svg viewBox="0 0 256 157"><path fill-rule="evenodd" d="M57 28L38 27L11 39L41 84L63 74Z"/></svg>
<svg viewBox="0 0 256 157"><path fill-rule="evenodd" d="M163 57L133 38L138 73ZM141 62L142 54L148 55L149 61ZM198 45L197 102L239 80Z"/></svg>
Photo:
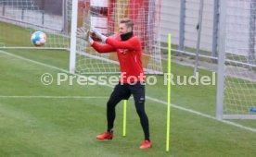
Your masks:
<svg viewBox="0 0 256 157"><path fill-rule="evenodd" d="M167 133L166 133L166 151L170 148L170 119L171 119L171 49L172 49L172 38L171 34L168 34L168 72L167 72Z"/></svg>

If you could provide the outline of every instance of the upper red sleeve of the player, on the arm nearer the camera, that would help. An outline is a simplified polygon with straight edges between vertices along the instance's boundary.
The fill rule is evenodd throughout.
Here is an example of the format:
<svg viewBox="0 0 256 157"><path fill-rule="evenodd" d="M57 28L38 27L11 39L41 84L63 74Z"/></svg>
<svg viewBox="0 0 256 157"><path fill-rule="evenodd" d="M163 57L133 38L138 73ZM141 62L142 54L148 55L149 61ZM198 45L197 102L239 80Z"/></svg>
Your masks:
<svg viewBox="0 0 256 157"><path fill-rule="evenodd" d="M141 48L141 44L138 38L133 37L128 41L117 41L112 38L107 38L106 41L109 45L115 47L116 49L129 49L139 51Z"/></svg>

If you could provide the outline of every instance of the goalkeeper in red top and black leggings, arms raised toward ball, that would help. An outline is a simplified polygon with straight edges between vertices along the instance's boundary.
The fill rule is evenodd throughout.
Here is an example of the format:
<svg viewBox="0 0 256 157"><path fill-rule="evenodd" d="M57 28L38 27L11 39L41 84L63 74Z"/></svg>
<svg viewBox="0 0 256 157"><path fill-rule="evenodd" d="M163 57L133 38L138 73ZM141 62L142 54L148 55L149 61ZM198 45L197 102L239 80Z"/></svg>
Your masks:
<svg viewBox="0 0 256 157"><path fill-rule="evenodd" d="M140 149L151 148L149 139L148 119L145 112L145 74L141 62L142 46L138 37L134 36L134 22L131 19L123 18L119 24L119 33L112 37L106 37L96 29L91 31L106 44L95 42L87 31L84 37L84 31L78 30L78 37L82 37L90 42L91 46L98 53L117 52L120 62L121 79L112 91L109 102L107 103L108 128L104 133L96 136L96 139L112 139L115 120L115 107L122 100L128 100L131 94L134 96L136 112L140 118L140 124L143 128L145 140L140 145Z"/></svg>

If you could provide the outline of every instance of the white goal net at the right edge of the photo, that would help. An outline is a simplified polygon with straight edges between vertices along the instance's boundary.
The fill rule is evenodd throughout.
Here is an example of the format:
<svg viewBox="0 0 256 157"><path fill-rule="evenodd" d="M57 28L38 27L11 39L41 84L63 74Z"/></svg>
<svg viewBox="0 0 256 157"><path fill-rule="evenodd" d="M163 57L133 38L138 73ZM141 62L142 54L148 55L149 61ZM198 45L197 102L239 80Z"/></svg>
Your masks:
<svg viewBox="0 0 256 157"><path fill-rule="evenodd" d="M256 1L227 0L225 6L224 99L218 114L256 119Z"/></svg>

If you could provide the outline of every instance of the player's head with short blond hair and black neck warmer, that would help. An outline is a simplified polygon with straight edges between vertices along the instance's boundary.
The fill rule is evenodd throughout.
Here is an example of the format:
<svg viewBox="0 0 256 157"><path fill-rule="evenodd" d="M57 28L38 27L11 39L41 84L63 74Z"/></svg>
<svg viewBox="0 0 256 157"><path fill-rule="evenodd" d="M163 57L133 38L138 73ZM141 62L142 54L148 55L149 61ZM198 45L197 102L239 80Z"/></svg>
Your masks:
<svg viewBox="0 0 256 157"><path fill-rule="evenodd" d="M123 18L119 23L119 33L122 41L127 41L134 35L134 22L129 18Z"/></svg>

